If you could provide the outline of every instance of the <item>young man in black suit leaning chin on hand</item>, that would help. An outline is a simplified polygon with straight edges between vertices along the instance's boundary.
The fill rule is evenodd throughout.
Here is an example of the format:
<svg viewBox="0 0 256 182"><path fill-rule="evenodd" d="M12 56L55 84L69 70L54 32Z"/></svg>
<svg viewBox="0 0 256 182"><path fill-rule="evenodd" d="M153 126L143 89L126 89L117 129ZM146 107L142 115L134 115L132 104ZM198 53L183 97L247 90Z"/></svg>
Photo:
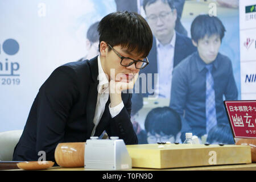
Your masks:
<svg viewBox="0 0 256 182"><path fill-rule="evenodd" d="M58 143L85 142L100 136L117 136L126 144L138 139L130 121L131 94L138 72L147 64L152 32L137 13L106 15L98 26L100 55L67 63L55 69L32 104L13 160L55 161Z"/></svg>

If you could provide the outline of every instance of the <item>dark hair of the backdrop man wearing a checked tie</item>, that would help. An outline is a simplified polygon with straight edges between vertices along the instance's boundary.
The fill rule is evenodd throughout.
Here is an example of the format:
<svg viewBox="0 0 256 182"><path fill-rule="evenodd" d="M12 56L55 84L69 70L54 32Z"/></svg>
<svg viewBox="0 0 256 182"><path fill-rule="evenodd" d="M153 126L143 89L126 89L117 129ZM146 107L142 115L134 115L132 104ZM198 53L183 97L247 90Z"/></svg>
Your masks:
<svg viewBox="0 0 256 182"><path fill-rule="evenodd" d="M224 37L225 27L217 16L199 15L191 24L191 39L196 43L205 36L219 35Z"/></svg>

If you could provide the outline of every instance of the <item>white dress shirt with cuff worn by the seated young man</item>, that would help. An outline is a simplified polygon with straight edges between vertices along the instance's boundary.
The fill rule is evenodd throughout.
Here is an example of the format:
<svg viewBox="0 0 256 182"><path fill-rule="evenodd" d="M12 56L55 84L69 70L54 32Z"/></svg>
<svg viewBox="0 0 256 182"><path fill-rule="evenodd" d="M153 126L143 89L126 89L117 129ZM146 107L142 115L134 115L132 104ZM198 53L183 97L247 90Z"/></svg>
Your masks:
<svg viewBox="0 0 256 182"><path fill-rule="evenodd" d="M109 99L109 80L106 77L106 74L104 73L102 67L101 67L101 60L100 55L98 56L98 96L97 96L97 102L96 102L96 109L95 114L93 118L94 128L92 131L91 136L94 136L96 127L98 126L98 123L100 122L100 119L102 117L102 114L105 110L106 102ZM118 104L115 107L110 107L109 104L109 112L112 118L114 118L117 114L120 113L120 111L123 109L123 101Z"/></svg>

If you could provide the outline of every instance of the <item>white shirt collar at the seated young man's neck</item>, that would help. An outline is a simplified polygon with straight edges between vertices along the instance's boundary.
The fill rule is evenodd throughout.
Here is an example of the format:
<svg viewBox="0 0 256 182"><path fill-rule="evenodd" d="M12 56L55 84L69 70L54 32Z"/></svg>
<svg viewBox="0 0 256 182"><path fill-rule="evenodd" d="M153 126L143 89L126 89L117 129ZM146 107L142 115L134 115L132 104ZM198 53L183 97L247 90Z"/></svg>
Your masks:
<svg viewBox="0 0 256 182"><path fill-rule="evenodd" d="M98 93L105 93L109 89L109 80L101 66L100 55L98 55Z"/></svg>

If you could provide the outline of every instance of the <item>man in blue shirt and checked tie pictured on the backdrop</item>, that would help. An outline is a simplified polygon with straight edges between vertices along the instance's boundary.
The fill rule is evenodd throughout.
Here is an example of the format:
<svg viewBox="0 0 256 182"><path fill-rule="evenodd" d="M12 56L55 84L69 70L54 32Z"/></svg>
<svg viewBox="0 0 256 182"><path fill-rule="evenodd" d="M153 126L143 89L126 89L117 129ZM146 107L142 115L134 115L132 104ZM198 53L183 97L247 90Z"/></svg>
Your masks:
<svg viewBox="0 0 256 182"><path fill-rule="evenodd" d="M216 125L228 125L223 101L237 100L232 61L219 52L225 27L217 16L198 15L191 24L197 51L174 68L170 107L180 114L185 133L207 137ZM232 137L232 136L230 136Z"/></svg>

